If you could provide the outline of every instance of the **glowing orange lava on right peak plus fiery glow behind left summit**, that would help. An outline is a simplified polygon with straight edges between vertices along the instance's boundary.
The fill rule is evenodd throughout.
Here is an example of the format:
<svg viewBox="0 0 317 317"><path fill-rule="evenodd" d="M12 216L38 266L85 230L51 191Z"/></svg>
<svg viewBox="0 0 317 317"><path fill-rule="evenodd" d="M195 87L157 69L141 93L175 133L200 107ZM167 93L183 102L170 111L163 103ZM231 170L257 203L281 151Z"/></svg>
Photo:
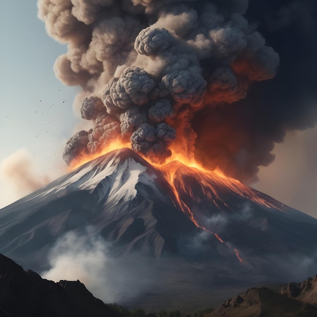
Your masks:
<svg viewBox="0 0 317 317"><path fill-rule="evenodd" d="M129 147L123 142L112 142L102 152L92 155L82 155L80 159L74 160L72 168L82 165L95 157L113 149L123 146ZM143 155L142 155L143 156ZM236 201L248 199L249 201L283 211L283 204L270 200L267 195L243 185L240 181L225 176L220 170L209 171L195 160L186 155L178 153L170 157L168 163L157 165L151 162L149 157L143 158L157 170L161 171L164 178L170 184L174 193L174 204L199 228L213 234L218 241L232 249L239 261L244 263L239 251L224 241L210 220L217 215L224 217L232 215L236 210L236 202L230 201L228 197L235 197ZM174 161L172 161L174 160Z"/></svg>

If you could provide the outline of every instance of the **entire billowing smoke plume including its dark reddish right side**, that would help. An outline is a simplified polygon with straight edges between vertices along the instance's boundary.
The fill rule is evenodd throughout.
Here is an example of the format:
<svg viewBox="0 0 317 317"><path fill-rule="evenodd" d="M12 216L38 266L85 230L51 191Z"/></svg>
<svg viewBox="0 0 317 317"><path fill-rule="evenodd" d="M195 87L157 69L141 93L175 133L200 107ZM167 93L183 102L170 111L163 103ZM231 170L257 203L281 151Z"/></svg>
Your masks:
<svg viewBox="0 0 317 317"><path fill-rule="evenodd" d="M315 121L309 82L316 74L309 66L316 62L307 52L317 51L310 18L316 6L313 0L38 0L48 33L68 44L56 75L87 92L81 114L95 124L70 138L65 161L130 140L135 151L164 162L176 144L209 168L255 180L286 129ZM282 57L276 78L275 50Z"/></svg>

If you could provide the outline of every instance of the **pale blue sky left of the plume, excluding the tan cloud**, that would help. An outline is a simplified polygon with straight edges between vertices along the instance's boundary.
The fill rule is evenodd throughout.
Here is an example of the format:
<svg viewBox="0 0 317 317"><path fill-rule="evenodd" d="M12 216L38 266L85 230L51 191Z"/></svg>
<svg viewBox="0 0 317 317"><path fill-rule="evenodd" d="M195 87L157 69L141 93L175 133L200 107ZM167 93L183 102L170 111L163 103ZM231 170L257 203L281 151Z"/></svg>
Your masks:
<svg viewBox="0 0 317 317"><path fill-rule="evenodd" d="M47 35L36 15L34 0L0 5L0 160L24 148L36 173L54 179L64 170L62 149L78 121L72 100L79 88L55 77L54 61L66 47ZM18 198L10 185L0 179L1 207Z"/></svg>

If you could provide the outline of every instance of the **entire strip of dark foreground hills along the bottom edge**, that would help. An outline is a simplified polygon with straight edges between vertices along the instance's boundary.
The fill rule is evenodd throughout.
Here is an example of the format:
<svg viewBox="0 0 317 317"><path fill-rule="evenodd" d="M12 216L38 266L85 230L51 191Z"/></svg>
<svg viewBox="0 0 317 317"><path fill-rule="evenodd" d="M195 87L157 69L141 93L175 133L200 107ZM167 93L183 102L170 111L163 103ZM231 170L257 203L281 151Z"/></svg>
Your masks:
<svg viewBox="0 0 317 317"><path fill-rule="evenodd" d="M284 294L284 295L283 295ZM251 288L228 299L204 317L315 317L317 316L317 275L302 283L290 283L280 292L268 288ZM124 310L119 313L112 305L95 298L80 281L44 280L0 254L0 316L89 316L89 317L141 317ZM162 307L164 308L164 307ZM185 310L183 310L185 311ZM142 314L143 313L143 314ZM185 314L174 311L173 316ZM194 314L192 314L194 315ZM163 316L149 313L148 316ZM188 314L187 314L188 316Z"/></svg>

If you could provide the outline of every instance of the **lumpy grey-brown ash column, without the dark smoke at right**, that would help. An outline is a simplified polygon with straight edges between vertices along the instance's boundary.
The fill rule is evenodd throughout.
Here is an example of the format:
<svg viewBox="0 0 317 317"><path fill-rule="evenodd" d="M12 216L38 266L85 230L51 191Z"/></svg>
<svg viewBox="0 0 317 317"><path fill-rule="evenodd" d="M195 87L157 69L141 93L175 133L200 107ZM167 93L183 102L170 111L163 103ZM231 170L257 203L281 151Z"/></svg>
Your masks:
<svg viewBox="0 0 317 317"><path fill-rule="evenodd" d="M70 138L67 164L113 139L130 138L135 151L160 162L173 142L193 155L195 112L245 98L279 65L244 17L247 8L246 0L38 0L48 33L68 44L57 77L91 93L81 114L95 127Z"/></svg>

